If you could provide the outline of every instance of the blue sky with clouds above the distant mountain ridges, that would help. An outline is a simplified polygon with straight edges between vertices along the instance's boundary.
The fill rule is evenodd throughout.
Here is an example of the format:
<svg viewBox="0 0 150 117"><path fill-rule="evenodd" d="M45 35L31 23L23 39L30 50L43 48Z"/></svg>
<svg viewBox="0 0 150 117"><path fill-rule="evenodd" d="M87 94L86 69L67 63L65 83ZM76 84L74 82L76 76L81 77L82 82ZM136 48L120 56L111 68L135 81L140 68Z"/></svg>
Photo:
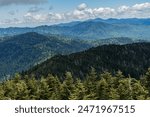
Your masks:
<svg viewBox="0 0 150 117"><path fill-rule="evenodd" d="M0 0L0 28L94 18L150 18L150 0Z"/></svg>

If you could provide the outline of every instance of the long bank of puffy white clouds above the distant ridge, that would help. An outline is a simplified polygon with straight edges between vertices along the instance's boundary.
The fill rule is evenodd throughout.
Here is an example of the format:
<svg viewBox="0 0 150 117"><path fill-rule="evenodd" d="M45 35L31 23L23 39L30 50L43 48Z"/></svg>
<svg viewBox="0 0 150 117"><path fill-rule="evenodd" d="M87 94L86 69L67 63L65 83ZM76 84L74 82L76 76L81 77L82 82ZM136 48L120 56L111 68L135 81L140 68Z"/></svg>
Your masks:
<svg viewBox="0 0 150 117"><path fill-rule="evenodd" d="M133 6L120 6L118 8L97 7L90 8L82 3L74 10L68 12L41 13L40 8L31 8L24 16L23 22L27 23L60 23L73 20L86 20L93 18L150 18L150 3L135 4ZM9 21L8 21L9 22ZM13 22L13 21L11 21ZM19 21L18 21L19 22Z"/></svg>

